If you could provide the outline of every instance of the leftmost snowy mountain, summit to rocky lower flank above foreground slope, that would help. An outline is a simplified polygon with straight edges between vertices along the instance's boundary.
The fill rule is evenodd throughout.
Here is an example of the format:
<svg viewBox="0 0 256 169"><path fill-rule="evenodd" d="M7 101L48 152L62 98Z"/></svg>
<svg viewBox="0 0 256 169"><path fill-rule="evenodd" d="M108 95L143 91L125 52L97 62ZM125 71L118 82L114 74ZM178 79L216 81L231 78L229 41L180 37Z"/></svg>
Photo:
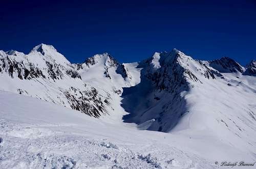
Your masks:
<svg viewBox="0 0 256 169"><path fill-rule="evenodd" d="M2 83L4 90L8 88L9 79L13 79L11 85L16 89L12 90L18 94L71 107L96 118L108 114L105 107L110 98L86 86L75 68L50 45L40 44L29 54L0 51L0 78L7 78Z"/></svg>

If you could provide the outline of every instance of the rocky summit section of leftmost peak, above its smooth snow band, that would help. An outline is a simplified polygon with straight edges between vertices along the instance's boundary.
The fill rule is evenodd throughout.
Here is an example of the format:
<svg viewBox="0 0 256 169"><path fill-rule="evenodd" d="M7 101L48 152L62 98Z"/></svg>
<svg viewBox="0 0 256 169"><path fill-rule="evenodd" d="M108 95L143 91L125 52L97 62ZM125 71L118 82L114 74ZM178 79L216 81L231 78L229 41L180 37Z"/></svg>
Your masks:
<svg viewBox="0 0 256 169"><path fill-rule="evenodd" d="M62 79L63 76L81 78L71 63L50 45L40 44L29 54L10 50L1 53L0 67L2 71L19 79L48 78Z"/></svg>

